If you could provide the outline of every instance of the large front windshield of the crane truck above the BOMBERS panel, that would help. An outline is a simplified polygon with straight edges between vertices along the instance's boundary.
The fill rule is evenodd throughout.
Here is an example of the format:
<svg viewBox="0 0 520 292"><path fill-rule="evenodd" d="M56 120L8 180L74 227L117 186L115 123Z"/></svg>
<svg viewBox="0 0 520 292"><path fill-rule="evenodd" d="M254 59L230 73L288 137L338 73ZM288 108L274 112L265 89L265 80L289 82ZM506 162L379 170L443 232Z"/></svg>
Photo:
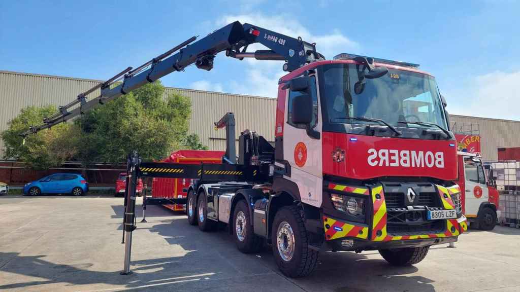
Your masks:
<svg viewBox="0 0 520 292"><path fill-rule="evenodd" d="M366 124L367 121L352 117L369 117L398 127L423 127L398 122L426 122L447 128L433 77L388 69L380 78L366 78L365 88L356 94L354 86L358 81L355 64L331 64L324 68L325 122Z"/></svg>

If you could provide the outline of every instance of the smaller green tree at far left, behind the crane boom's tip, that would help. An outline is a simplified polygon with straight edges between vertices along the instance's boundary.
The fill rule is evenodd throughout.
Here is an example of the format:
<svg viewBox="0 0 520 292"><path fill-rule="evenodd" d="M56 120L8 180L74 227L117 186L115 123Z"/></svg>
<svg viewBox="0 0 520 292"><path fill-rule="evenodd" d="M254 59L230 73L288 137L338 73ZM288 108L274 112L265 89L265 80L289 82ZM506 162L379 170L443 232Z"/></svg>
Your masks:
<svg viewBox="0 0 520 292"><path fill-rule="evenodd" d="M20 111L20 114L9 121L8 129L1 134L5 143L4 158L25 162L32 169L46 169L61 165L76 155L76 138L74 126L71 124L56 125L25 140L20 134L32 125L38 125L43 118L55 113L54 105L45 107L30 106Z"/></svg>

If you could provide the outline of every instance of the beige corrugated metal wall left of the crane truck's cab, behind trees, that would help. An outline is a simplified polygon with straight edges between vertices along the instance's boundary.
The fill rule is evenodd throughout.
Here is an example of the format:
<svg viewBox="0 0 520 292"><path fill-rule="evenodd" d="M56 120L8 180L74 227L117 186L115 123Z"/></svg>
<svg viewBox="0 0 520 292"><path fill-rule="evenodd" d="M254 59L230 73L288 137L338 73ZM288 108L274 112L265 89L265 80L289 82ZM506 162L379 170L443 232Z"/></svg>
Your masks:
<svg viewBox="0 0 520 292"><path fill-rule="evenodd" d="M0 71L0 131L22 108L28 105L63 105L100 81ZM237 138L240 131L256 130L268 141L274 141L276 100L265 97L232 95L191 89L166 88L165 94L177 91L191 98L193 107L190 132L197 133L211 150L225 150L225 130L214 130L214 122L227 112L235 113ZM99 90L89 95L98 96ZM238 143L238 142L237 142ZM0 139L0 157L4 144Z"/></svg>

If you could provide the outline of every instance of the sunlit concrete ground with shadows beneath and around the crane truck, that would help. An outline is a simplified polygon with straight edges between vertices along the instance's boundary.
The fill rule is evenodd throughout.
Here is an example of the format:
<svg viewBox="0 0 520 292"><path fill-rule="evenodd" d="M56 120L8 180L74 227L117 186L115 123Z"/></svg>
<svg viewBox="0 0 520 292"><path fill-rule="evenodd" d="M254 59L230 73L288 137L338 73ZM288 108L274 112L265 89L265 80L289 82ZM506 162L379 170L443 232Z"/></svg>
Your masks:
<svg viewBox="0 0 520 292"><path fill-rule="evenodd" d="M0 196L0 290L520 291L519 229L470 231L457 248L432 247L407 268L391 267L373 251L322 253L313 274L291 279L270 250L241 254L225 231L202 233L160 206L150 206L148 223L138 223L134 274L123 276L122 203Z"/></svg>

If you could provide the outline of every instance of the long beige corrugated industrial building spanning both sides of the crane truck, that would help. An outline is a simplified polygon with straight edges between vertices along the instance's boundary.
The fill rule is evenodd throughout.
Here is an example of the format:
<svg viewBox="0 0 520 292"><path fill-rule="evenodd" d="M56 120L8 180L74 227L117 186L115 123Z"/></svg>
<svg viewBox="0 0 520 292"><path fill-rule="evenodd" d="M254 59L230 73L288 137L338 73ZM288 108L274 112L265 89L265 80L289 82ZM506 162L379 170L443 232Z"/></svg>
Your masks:
<svg viewBox="0 0 520 292"><path fill-rule="evenodd" d="M100 82L102 81L0 71L0 131L5 130L8 122L20 112L20 109L28 105L66 104L80 92ZM171 87L166 87L165 94L174 91L191 99L190 132L197 133L201 142L210 150L225 150L225 132L215 131L213 123L228 111L237 113L237 135L240 135L241 130L248 128L256 130L268 140L274 140L274 98ZM98 95L99 90L92 94ZM462 115L450 115L449 120L453 131L480 136L482 154L486 161L498 159L498 148L520 147L520 121ZM4 144L0 139L2 157L3 151Z"/></svg>

